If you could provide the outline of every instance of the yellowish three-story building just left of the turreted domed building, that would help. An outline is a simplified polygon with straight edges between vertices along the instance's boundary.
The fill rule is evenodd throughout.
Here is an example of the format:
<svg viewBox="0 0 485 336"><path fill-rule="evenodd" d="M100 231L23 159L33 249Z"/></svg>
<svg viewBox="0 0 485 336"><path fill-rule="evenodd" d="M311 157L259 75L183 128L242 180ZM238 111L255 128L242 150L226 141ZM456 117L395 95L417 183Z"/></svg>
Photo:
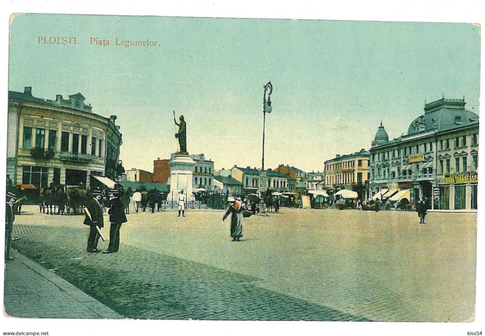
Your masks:
<svg viewBox="0 0 485 336"><path fill-rule="evenodd" d="M338 154L325 161L323 172L327 193L333 195L339 190L350 189L357 192L359 199L364 199L365 183L369 179L370 156L369 151L361 149L352 154Z"/></svg>

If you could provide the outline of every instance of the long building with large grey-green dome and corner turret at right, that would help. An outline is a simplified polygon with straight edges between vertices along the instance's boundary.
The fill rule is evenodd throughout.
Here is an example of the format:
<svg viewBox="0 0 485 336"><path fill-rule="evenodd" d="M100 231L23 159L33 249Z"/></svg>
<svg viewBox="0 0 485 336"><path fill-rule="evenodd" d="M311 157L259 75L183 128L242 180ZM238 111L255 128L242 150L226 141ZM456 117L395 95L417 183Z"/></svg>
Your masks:
<svg viewBox="0 0 485 336"><path fill-rule="evenodd" d="M379 126L372 142L368 196L382 189L409 189L432 209L477 209L478 115L464 99L425 104L407 134L388 140Z"/></svg>

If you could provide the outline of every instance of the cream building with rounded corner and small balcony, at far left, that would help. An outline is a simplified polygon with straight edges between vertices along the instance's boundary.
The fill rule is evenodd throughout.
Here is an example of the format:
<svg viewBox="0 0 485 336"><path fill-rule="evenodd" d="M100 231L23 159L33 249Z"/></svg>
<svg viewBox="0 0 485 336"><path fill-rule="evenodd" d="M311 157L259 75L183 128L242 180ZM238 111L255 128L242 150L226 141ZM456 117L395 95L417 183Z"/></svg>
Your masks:
<svg viewBox="0 0 485 336"><path fill-rule="evenodd" d="M8 92L7 175L14 183L89 187L116 179L122 144L116 116L94 114L81 93L37 98L32 87Z"/></svg>

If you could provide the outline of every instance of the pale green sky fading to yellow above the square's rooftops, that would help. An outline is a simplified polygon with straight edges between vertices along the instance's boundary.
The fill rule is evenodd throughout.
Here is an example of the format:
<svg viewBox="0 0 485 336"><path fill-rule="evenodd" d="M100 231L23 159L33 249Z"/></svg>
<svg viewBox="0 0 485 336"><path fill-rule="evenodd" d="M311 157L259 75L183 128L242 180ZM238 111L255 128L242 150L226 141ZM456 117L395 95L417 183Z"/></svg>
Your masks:
<svg viewBox="0 0 485 336"><path fill-rule="evenodd" d="M91 37L111 45L89 45ZM116 37L160 46L114 46ZM153 160L175 152L172 110L187 121L189 153L216 169L260 167L269 80L265 168L322 171L335 154L369 149L381 118L398 137L424 100L442 94L479 106L472 24L23 14L9 53L9 90L32 86L46 99L81 92L94 113L116 114L126 169L153 171Z"/></svg>

